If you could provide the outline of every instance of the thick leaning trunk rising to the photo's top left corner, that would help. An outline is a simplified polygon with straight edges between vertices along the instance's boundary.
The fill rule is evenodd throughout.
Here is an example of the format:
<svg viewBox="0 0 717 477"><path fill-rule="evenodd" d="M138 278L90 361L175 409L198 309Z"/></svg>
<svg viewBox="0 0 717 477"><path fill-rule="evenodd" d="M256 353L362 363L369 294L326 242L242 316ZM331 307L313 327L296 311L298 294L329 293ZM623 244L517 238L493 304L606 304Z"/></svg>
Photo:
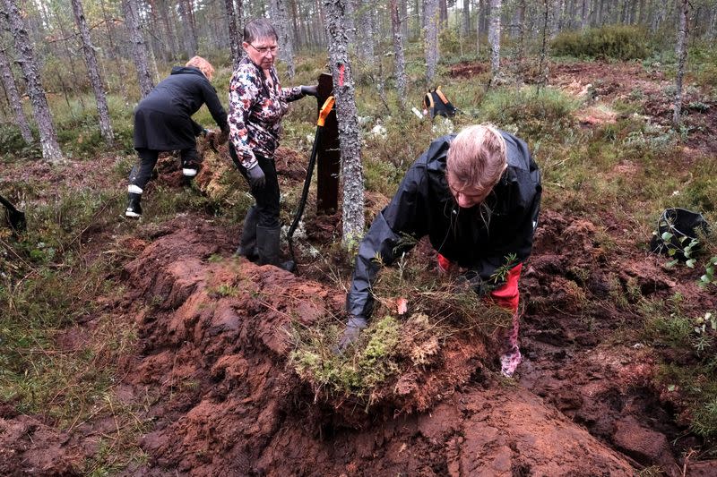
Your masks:
<svg viewBox="0 0 717 477"><path fill-rule="evenodd" d="M30 42L30 35L22 20L22 14L15 4L15 0L3 0L4 10L0 16L10 26L15 40L15 48L19 54L18 63L22 68L22 74L27 81L28 94L32 104L32 112L35 115L35 122L38 124L39 143L42 148L42 158L56 164L63 160L60 145L57 143L57 133L52 124L52 115L48 98L42 88L39 76L39 65L35 61L35 52Z"/></svg>

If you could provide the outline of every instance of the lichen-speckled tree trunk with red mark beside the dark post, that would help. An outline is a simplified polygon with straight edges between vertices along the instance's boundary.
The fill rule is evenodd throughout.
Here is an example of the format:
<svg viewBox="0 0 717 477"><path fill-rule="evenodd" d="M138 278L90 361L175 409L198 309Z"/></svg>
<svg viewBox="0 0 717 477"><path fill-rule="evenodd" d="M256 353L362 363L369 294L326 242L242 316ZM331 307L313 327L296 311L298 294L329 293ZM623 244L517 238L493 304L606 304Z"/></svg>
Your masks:
<svg viewBox="0 0 717 477"><path fill-rule="evenodd" d="M343 175L343 237L346 248L355 246L364 234L364 179L361 140L358 135L355 86L349 62L349 38L345 0L324 0L326 39L333 74L333 95L341 141Z"/></svg>

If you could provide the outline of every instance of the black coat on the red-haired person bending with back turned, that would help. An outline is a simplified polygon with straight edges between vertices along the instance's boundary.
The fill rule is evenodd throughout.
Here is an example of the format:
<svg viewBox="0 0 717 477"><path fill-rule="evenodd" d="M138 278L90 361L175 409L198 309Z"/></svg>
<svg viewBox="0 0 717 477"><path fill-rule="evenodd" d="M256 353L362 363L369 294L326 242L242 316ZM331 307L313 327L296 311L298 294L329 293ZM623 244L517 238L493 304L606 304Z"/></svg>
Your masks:
<svg viewBox="0 0 717 477"><path fill-rule="evenodd" d="M134 148L189 149L203 127L192 115L206 103L222 131L229 131L227 113L217 90L197 68L175 66L134 109Z"/></svg>

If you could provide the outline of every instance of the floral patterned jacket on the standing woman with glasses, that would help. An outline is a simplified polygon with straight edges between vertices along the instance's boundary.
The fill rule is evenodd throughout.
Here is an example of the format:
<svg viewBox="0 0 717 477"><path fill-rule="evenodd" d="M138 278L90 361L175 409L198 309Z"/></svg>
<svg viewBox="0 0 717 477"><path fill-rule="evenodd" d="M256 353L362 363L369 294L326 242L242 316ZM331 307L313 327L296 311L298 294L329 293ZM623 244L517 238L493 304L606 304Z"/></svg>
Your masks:
<svg viewBox="0 0 717 477"><path fill-rule="evenodd" d="M275 67L269 73L271 83L245 57L229 81L229 139L247 169L256 165L255 154L272 158L279 146L281 117L289 102L304 97L300 86L281 88Z"/></svg>

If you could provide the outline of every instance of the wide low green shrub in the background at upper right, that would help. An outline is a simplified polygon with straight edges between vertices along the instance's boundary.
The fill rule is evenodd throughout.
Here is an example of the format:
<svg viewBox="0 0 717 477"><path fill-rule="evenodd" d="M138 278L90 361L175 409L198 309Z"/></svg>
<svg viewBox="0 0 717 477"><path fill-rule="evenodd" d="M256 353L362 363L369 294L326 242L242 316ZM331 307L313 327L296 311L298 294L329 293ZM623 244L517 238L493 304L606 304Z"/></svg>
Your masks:
<svg viewBox="0 0 717 477"><path fill-rule="evenodd" d="M565 31L550 44L554 54L578 58L642 59L651 53L644 29L609 25L583 32Z"/></svg>

